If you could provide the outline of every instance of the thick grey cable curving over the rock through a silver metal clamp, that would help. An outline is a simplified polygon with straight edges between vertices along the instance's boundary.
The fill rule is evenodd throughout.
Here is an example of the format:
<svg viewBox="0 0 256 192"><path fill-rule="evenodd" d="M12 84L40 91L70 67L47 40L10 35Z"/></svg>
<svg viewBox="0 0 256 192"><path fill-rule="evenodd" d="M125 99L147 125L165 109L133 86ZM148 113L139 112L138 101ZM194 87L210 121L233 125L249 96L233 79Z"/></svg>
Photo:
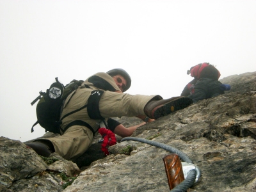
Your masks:
<svg viewBox="0 0 256 192"><path fill-rule="evenodd" d="M180 157L180 159L184 162L182 162L182 170L183 170L183 175L184 175L184 180L182 182L179 183L179 185L175 186L175 188L170 189L171 191L187 191L188 188L190 188L191 186L193 186L193 184L195 182L198 181L198 179L201 176L201 171L198 168L198 166L196 166L195 164L193 164L193 161L183 152L181 152L180 150L178 150L177 148L173 148L170 147L169 145L165 145L163 143L158 143L156 141L151 141L151 140L146 140L143 138L134 138L134 137L127 137L127 138L123 138L121 140L122 141L127 141L127 140L133 140L133 141L140 141L141 143L147 143L149 145L154 145L156 147L160 147L163 148L165 150L168 150L169 152L172 152L174 154L177 154L177 156ZM164 157L165 158L165 157ZM164 159L163 158L163 159ZM167 161L164 161L164 163L166 163ZM168 170L166 170L167 173ZM169 180L169 177L168 177Z"/></svg>

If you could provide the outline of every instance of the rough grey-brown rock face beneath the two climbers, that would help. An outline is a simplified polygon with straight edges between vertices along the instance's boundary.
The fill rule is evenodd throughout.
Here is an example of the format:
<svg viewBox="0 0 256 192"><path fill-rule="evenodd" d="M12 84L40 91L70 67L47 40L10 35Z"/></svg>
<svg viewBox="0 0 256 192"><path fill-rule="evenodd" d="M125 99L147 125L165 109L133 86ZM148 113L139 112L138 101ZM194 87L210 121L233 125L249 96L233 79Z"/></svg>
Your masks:
<svg viewBox="0 0 256 192"><path fill-rule="evenodd" d="M187 191L256 191L256 72L225 77L231 90L139 127L132 137L184 152L201 170ZM122 117L126 127L138 118ZM56 136L47 133L44 137ZM122 141L105 157L97 143L67 161L46 164L20 141L0 138L0 191L169 191L161 147ZM57 161L58 160L58 161ZM65 174L74 180L70 186ZM77 177L76 177L77 175Z"/></svg>

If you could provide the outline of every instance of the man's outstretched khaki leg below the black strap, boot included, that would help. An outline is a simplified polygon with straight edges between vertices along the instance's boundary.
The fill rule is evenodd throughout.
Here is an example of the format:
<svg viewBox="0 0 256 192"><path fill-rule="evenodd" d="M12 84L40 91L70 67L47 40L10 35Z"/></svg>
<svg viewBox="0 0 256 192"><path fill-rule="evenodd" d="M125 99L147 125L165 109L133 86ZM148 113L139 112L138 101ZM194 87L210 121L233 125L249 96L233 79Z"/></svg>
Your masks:
<svg viewBox="0 0 256 192"><path fill-rule="evenodd" d="M184 109L193 103L188 97L172 97L163 99L159 95L129 95L122 93L105 92L99 102L100 115L138 116L147 115L157 119L174 111Z"/></svg>

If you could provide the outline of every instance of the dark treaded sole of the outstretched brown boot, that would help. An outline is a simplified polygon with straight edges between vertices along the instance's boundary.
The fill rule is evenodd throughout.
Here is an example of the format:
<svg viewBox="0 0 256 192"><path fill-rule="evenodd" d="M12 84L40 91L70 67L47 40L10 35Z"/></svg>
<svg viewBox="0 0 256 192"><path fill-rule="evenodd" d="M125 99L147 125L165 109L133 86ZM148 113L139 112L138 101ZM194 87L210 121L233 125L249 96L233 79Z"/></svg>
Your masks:
<svg viewBox="0 0 256 192"><path fill-rule="evenodd" d="M179 99L172 100L166 104L163 104L162 106L157 106L157 108L152 111L152 116L154 119L157 119L161 116L165 116L180 109L184 109L191 104L193 104L192 99L189 97L181 97Z"/></svg>

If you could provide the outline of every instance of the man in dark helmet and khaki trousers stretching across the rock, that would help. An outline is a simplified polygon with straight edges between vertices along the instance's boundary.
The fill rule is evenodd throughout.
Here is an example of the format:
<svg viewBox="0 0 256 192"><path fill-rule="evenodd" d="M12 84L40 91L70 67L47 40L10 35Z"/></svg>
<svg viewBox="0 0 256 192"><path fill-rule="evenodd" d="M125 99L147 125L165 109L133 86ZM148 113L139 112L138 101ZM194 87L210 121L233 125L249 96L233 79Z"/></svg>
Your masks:
<svg viewBox="0 0 256 192"><path fill-rule="evenodd" d="M86 103L87 108L63 118L60 136L37 139L26 145L41 156L48 157L52 152L56 152L65 159L76 158L92 145L93 137L98 133L102 120L106 120L107 127L112 132L126 137L131 136L132 132L145 122L127 129L111 117L147 116L154 120L193 103L192 99L182 96L163 99L160 95L124 93L130 86L131 77L122 68L114 68L106 73L99 72L88 77L74 94L68 95L63 104L61 118Z"/></svg>

